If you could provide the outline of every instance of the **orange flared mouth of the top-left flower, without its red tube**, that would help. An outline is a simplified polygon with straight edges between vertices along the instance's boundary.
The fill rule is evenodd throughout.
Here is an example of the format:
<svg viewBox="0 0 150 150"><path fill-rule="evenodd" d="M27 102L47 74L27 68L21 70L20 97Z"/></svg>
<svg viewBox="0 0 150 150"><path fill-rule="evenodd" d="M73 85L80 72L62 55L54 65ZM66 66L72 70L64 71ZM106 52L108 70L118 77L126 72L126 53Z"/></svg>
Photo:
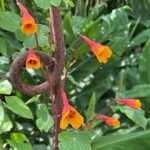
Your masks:
<svg viewBox="0 0 150 150"><path fill-rule="evenodd" d="M26 35L31 35L37 32L37 24L34 19L22 19L21 30Z"/></svg>

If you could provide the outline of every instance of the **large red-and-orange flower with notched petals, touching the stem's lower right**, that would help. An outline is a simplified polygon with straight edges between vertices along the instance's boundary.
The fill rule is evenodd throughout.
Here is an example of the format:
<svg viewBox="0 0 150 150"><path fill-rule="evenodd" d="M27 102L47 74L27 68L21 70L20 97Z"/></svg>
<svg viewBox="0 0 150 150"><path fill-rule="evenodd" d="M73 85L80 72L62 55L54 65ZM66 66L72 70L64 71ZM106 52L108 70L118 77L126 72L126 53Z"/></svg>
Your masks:
<svg viewBox="0 0 150 150"><path fill-rule="evenodd" d="M84 122L84 118L79 114L79 112L69 105L66 93L61 92L61 97L63 100L63 112L60 121L60 128L65 129L70 124L73 128L78 129Z"/></svg>

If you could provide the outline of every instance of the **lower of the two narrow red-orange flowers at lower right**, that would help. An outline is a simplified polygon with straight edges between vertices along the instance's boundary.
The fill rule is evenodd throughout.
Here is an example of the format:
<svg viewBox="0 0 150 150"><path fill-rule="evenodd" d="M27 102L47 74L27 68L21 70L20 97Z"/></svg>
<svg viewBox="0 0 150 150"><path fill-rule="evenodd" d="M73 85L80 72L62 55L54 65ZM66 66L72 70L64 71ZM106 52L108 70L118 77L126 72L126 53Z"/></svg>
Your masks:
<svg viewBox="0 0 150 150"><path fill-rule="evenodd" d="M118 128L120 127L120 121L116 118L104 116L104 115L98 115L97 119L103 120L107 125Z"/></svg>

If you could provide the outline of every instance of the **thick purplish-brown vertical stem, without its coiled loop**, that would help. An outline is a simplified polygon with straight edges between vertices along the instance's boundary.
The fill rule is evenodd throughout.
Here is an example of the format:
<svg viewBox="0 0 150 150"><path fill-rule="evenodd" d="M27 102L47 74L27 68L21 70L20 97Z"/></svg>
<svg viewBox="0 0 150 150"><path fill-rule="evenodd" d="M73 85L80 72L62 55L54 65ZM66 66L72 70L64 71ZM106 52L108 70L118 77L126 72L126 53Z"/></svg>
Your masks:
<svg viewBox="0 0 150 150"><path fill-rule="evenodd" d="M52 39L56 48L55 60L56 64L52 73L52 84L54 100L52 101L54 129L53 129L53 150L58 150L58 134L61 132L60 119L62 113L61 101L61 74L64 67L64 36L62 29L61 10L59 7L50 7L50 19L52 28Z"/></svg>

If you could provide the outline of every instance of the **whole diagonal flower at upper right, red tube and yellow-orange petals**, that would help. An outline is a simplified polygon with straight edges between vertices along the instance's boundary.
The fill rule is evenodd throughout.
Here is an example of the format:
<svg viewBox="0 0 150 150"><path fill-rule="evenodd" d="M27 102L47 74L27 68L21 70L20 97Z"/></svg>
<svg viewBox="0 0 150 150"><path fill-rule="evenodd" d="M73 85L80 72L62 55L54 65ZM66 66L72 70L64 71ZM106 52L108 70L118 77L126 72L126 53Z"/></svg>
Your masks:
<svg viewBox="0 0 150 150"><path fill-rule="evenodd" d="M91 47L92 52L97 57L99 62L107 63L107 59L112 55L112 51L108 46L96 43L87 38L85 35L80 35L80 37Z"/></svg>

